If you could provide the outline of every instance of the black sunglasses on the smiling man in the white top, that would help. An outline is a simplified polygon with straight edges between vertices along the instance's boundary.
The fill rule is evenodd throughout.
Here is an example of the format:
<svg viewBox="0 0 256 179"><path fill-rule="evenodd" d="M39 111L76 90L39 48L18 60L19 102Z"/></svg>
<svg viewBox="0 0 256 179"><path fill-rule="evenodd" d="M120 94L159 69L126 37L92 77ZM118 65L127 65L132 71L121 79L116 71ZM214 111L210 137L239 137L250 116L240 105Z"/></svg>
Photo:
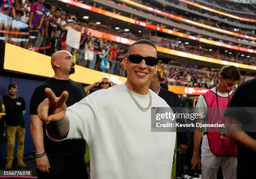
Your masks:
<svg viewBox="0 0 256 179"><path fill-rule="evenodd" d="M135 64L141 63L143 59L145 60L146 65L148 66L153 67L158 64L158 59L155 57L141 57L141 55L136 55L136 54L128 55L127 57L127 60Z"/></svg>

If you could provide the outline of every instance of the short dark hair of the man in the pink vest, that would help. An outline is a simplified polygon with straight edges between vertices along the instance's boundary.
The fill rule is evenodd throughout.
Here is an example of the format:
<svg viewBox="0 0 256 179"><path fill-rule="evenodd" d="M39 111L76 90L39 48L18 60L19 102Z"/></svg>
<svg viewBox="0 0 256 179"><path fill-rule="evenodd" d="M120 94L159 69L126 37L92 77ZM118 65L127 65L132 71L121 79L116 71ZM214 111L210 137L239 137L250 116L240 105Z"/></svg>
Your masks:
<svg viewBox="0 0 256 179"><path fill-rule="evenodd" d="M231 79L239 81L241 79L240 72L237 67L232 65L225 65L220 70L220 76L223 77L223 79Z"/></svg>

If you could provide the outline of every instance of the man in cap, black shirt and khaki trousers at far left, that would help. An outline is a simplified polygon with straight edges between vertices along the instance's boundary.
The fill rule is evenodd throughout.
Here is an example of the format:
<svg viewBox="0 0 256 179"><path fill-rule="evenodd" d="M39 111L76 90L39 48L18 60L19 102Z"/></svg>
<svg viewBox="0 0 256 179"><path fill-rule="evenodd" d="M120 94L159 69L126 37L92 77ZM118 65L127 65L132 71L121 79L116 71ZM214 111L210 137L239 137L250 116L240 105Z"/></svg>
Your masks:
<svg viewBox="0 0 256 179"><path fill-rule="evenodd" d="M13 150L15 146L15 136L17 134L17 159L18 167L27 167L23 162L24 140L25 140L25 119L26 110L25 100L17 95L18 86L10 84L8 86L9 94L3 96L5 104L5 120L7 132L7 164L5 169L11 169L13 164Z"/></svg>

